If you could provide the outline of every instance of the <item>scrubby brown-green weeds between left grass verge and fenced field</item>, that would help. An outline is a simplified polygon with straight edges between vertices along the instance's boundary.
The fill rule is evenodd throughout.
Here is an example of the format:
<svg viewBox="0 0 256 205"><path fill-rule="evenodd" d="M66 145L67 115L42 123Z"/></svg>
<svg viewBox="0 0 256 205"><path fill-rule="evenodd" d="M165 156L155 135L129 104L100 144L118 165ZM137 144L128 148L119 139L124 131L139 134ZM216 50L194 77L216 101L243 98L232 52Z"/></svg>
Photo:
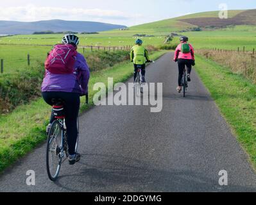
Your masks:
<svg viewBox="0 0 256 205"><path fill-rule="evenodd" d="M85 54L92 72L113 67L130 58L128 51L94 51ZM33 67L17 69L0 75L0 115L10 113L15 107L31 102L40 96L40 85L44 76L44 61Z"/></svg>

